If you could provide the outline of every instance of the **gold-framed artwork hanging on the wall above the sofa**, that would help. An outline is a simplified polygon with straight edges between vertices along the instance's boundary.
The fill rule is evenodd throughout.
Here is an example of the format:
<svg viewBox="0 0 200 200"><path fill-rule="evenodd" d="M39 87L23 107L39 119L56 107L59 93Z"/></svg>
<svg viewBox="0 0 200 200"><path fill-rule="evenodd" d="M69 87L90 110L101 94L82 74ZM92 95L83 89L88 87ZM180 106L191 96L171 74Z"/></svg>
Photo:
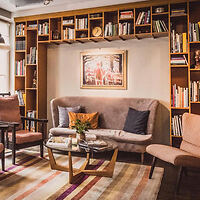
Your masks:
<svg viewBox="0 0 200 200"><path fill-rule="evenodd" d="M125 50L81 53L81 88L126 89Z"/></svg>

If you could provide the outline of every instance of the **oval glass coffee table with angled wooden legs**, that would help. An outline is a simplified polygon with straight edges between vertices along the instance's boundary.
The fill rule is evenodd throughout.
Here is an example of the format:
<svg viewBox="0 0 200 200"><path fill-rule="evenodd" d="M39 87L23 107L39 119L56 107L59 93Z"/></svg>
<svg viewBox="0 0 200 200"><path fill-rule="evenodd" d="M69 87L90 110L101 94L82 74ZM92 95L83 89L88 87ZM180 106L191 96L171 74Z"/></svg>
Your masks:
<svg viewBox="0 0 200 200"><path fill-rule="evenodd" d="M89 145L88 146L85 146L85 145L67 146L67 144L66 145L65 144L52 145L52 143L49 142L49 139L45 140L44 145L48 149L49 162L50 162L51 169L69 172L69 183L75 183L83 174L88 174L88 175L93 175L93 176L112 177L113 172L114 172L115 162L117 159L117 154L118 154L118 146L117 146L117 143L113 140L104 139L104 138L101 138L100 140L107 144L107 146L104 146L103 148L99 148L100 150L98 150L98 148L94 146L89 146ZM69 165L63 166L63 165L57 164L55 157L53 155L53 150L67 152ZM113 151L113 155L109 164L103 170L89 169L90 158L93 156L93 153L100 153L100 152L102 153L102 152L108 152L108 151ZM86 154L86 160L79 169L73 168L72 152L81 152L81 153Z"/></svg>

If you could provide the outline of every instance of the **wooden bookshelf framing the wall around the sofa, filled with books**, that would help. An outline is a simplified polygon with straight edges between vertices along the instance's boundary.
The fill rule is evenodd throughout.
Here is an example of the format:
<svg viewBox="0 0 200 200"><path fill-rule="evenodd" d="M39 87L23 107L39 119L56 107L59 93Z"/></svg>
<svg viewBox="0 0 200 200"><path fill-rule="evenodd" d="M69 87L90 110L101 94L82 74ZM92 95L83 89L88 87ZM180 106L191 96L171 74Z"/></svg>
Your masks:
<svg viewBox="0 0 200 200"><path fill-rule="evenodd" d="M194 58L200 50L199 10L196 0L157 0L15 18L15 90L26 96L22 113L35 110L37 117L46 117L48 44L168 37L170 144L178 146L181 134L173 126L184 112L200 114L200 67L195 68ZM35 51L31 47L36 47L36 61L27 62ZM17 68L21 63L23 69Z"/></svg>

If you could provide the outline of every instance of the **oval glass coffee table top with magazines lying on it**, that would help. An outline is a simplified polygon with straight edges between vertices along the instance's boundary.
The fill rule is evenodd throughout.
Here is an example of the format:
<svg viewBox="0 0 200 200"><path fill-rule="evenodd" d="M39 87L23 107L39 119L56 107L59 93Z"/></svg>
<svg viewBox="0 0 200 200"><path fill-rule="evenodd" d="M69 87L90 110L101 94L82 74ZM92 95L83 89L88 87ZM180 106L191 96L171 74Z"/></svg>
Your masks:
<svg viewBox="0 0 200 200"><path fill-rule="evenodd" d="M106 138L98 138L95 141L82 141L78 145L74 145L72 139L67 137L51 137L44 141L44 145L52 150L64 152L105 152L112 151L117 148L114 140Z"/></svg>

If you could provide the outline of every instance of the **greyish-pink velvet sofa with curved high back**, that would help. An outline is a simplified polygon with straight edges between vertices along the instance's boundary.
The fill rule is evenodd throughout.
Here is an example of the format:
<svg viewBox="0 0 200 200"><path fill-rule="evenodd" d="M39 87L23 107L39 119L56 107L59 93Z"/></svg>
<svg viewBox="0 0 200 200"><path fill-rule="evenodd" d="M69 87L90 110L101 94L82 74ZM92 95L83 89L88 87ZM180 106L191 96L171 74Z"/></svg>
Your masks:
<svg viewBox="0 0 200 200"><path fill-rule="evenodd" d="M58 128L58 106L75 107L80 105L81 112L99 113L98 129L90 129L89 133L115 140L119 151L141 153L141 161L143 162L146 147L152 142L156 109L159 104L157 100L146 98L65 96L51 100L50 104L53 122L53 128L50 129L51 136L76 134L73 129ZM145 135L123 131L129 107L140 111L150 111Z"/></svg>

